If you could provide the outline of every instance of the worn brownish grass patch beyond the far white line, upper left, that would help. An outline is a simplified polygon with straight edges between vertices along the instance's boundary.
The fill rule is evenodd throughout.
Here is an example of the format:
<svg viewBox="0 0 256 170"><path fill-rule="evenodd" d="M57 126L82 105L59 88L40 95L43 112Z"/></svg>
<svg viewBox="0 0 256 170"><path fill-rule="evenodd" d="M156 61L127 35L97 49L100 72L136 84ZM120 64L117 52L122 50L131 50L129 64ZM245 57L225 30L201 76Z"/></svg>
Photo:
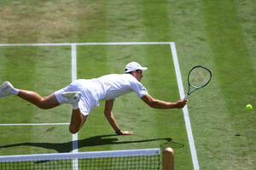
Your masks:
<svg viewBox="0 0 256 170"><path fill-rule="evenodd" d="M56 5L57 4L57 5ZM75 37L80 20L97 18L101 3L93 1L10 1L0 7L1 42L61 42ZM90 34L90 24L84 23Z"/></svg>

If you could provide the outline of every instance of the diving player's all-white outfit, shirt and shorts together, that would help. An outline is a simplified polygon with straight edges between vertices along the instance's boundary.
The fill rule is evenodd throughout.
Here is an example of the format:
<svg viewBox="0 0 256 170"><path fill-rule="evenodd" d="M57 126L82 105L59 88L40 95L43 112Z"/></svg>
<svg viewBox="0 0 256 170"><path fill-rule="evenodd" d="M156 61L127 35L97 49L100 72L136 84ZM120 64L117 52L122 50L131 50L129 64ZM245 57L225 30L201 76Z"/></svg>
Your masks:
<svg viewBox="0 0 256 170"><path fill-rule="evenodd" d="M55 96L60 104L67 103L67 99L63 98L61 94L72 91L82 93L79 108L84 115L88 115L95 106L99 106L99 100L116 99L132 91L139 98L148 94L142 83L138 82L131 74L110 74L93 79L79 79L55 92Z"/></svg>

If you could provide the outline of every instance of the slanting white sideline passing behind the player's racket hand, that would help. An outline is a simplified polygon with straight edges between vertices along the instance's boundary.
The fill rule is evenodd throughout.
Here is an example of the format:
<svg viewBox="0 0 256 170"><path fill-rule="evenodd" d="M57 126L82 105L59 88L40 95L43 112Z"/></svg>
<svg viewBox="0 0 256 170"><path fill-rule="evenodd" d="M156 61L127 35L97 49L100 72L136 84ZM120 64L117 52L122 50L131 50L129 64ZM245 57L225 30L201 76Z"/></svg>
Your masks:
<svg viewBox="0 0 256 170"><path fill-rule="evenodd" d="M177 85L178 85L179 95L180 95L180 99L183 99L184 98L184 88L183 88L183 80L181 77L179 64L178 64L178 60L177 60L177 51L176 51L174 42L171 42L170 45L171 45L171 49L172 49L172 59L173 59L176 77L177 77ZM189 147L190 147L190 151L191 151L194 169L199 170L199 164L198 164L197 155L196 155L196 151L195 151L195 142L194 142L194 138L193 138L192 128L190 125L189 111L188 111L187 105L185 105L185 107L183 107L183 116L184 116L186 129L187 129L187 133L188 133Z"/></svg>

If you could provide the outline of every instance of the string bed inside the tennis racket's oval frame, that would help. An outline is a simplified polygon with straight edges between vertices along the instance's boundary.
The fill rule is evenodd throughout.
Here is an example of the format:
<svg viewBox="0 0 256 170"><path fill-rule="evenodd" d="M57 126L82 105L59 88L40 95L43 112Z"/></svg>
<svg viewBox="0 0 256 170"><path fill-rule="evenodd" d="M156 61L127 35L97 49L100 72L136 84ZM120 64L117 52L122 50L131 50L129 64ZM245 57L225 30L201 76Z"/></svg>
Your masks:
<svg viewBox="0 0 256 170"><path fill-rule="evenodd" d="M189 82L194 88L200 88L207 84L211 78L211 73L204 68L196 67L189 74Z"/></svg>

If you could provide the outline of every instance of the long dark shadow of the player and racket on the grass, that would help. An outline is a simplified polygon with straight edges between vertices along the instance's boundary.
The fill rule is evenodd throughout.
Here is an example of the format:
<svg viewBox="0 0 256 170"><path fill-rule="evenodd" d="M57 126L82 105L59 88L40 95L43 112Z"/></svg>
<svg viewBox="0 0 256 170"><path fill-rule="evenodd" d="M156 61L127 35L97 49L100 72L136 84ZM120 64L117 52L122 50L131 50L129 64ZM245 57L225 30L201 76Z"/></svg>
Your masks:
<svg viewBox="0 0 256 170"><path fill-rule="evenodd" d="M163 140L163 144L160 144L160 148L172 147L172 148L181 148L184 144L180 144L177 142L173 142L171 138L163 138L163 139L143 139L143 140L133 140L133 141L118 141L117 135L102 135L102 136L94 136L87 139L78 140L78 148L97 146L97 145L106 145L106 144L132 144L132 143L143 143L143 142L151 142L156 140ZM49 150L56 150L59 153L70 152L73 150L73 141L67 143L19 143L19 144L6 144L0 145L0 149L2 148L10 148L16 146L32 146L32 147L41 147ZM76 148L74 148L76 149Z"/></svg>

